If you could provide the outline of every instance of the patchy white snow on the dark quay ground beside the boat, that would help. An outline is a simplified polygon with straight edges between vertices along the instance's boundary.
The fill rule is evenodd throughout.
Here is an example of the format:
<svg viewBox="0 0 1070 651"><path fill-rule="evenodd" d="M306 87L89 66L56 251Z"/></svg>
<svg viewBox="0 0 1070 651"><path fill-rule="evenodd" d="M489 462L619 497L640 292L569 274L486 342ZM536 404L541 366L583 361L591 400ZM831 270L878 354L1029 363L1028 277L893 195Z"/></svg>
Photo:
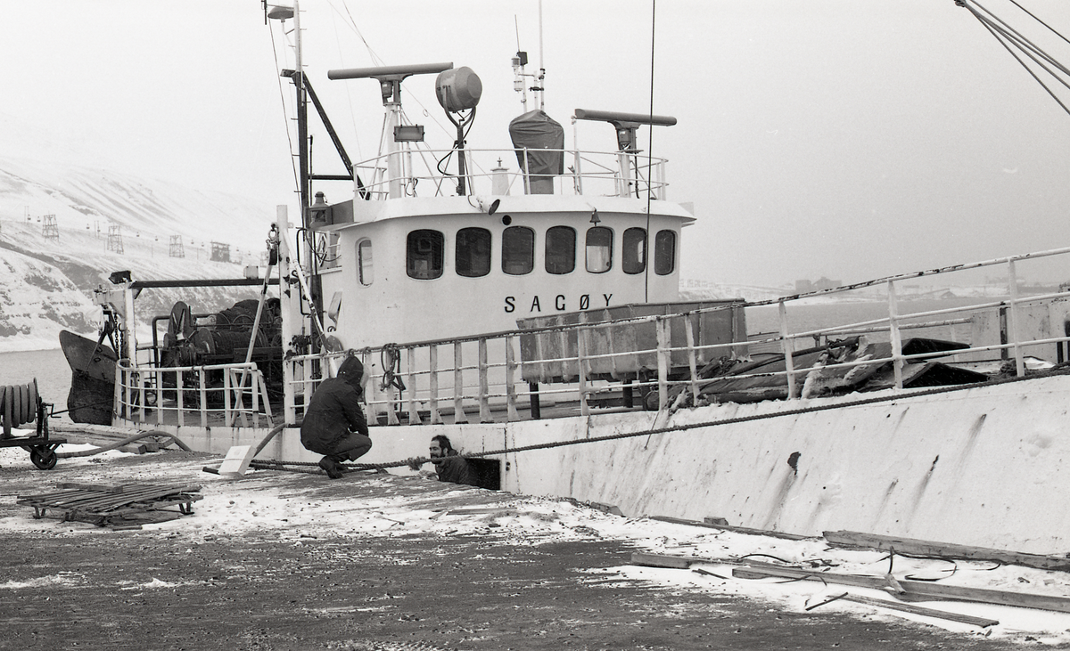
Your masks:
<svg viewBox="0 0 1070 651"><path fill-rule="evenodd" d="M90 449L91 446L62 446L60 452ZM143 463L123 463L132 455L109 451L93 456L60 460L50 477L34 470L29 455L18 448L0 449L0 467L11 476L25 469L20 479L32 478L42 486L46 481L78 478L78 481L121 483L148 481L189 482L202 486L203 499L195 503L195 513L163 524L146 525L143 531L160 537L188 539L192 553L197 544L220 537L232 538L271 531L279 540L302 541L325 537L399 537L419 534L449 537L479 534L503 542L541 544L577 540L622 540L649 553L694 558L739 559L753 555L755 560L783 560L813 570L884 576L891 567L898 579L939 579L941 583L1033 594L1070 596L1070 576L1017 565L991 562L949 561L906 558L897 555L891 563L887 553L846 551L811 539L792 541L763 536L666 523L646 517L621 517L556 498L515 496L508 493L480 493L478 509L471 505L472 489L452 491L446 498L433 501L413 500L411 493L397 491L398 482L431 481L388 475L362 475L365 490L377 497L354 500L339 495L315 497L294 490L292 475L255 470L241 480L229 480L202 471L218 466L221 460L188 456L168 459L166 452L146 455ZM174 455L178 458L179 455ZM129 461L127 459L127 461ZM63 477L60 477L59 471ZM47 477L47 480L45 479ZM29 480L28 480L29 481ZM327 481L325 478L323 481ZM340 480L349 481L349 480ZM11 538L30 532L55 536L112 536L109 531L81 523L57 526L55 520L33 520L31 509L15 508L15 496L0 486L0 536ZM367 494L367 493L365 493ZM455 499L450 501L450 496ZM774 557L774 558L770 558ZM670 570L622 564L598 571L592 580L646 582L671 590L693 590L735 594L763 600L775 607L804 611L831 595L852 594L889 599L886 593L862 588L823 585L816 582L780 583L774 579L748 580L732 576L733 565L692 564L691 570ZM699 572L698 570L702 570ZM62 576L42 576L37 582L61 582ZM165 582L166 583L166 582ZM0 580L0 599L9 591L25 587L18 582ZM144 585L142 588L167 587ZM939 626L967 637L993 637L1046 645L1070 644L1070 614L964 602L916 604L949 613L998 620L997 625L981 629L948 620L899 613L873 606L834 601L820 606L822 611L839 610L861 618L906 619Z"/></svg>

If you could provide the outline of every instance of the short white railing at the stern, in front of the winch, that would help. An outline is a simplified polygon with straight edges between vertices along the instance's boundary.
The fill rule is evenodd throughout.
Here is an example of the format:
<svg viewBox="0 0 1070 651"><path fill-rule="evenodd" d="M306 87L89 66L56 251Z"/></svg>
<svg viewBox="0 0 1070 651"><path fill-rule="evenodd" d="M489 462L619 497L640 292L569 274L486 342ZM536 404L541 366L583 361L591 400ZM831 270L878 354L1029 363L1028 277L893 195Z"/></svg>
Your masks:
<svg viewBox="0 0 1070 651"><path fill-rule="evenodd" d="M135 423L261 427L271 401L256 363L199 367L117 365L116 418Z"/></svg>

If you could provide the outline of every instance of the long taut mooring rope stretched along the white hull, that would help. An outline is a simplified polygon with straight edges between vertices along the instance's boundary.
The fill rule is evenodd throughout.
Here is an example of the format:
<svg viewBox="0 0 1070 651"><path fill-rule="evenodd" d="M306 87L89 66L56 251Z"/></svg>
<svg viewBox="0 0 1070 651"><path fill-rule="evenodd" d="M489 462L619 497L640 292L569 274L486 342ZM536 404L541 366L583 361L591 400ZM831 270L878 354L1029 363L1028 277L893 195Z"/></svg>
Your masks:
<svg viewBox="0 0 1070 651"><path fill-rule="evenodd" d="M1057 372L1052 373L1053 375L1065 375L1070 373L1068 369L1060 369ZM578 438L575 440L554 440L550 443L534 444L530 446L520 446L516 448L503 448L500 450L488 450L486 452L472 452L467 454L460 454L461 459L479 459L482 456L494 456L499 454L517 454L519 452L531 452L534 450L547 450L551 448L563 448L566 446L577 446L588 443L602 443L607 440L616 440L622 438L635 438L637 436L652 436L655 434L670 434L673 432L686 432L688 430L697 430L700 428L717 428L723 425L737 424L742 422L751 422L755 420L768 420L771 418L781 418L784 416L799 416L802 414L812 414L815 412L827 412L829 409L842 409L846 407L857 407L869 404L877 404L882 402L895 402L897 400L905 400L908 398L924 398L927 396L938 396L942 393L950 393L953 391L962 391L966 389L976 389L978 387L989 387L995 385L1010 384L1014 382L1021 382L1023 379L1036 379L1037 375L1022 376L1022 377L1005 377L999 379L990 379L989 382L977 385L956 385L951 387L936 387L933 389L926 389L922 391L916 391L907 394L897 393L890 396L877 396L874 398L867 398L862 400L853 400L851 402L837 402L824 405L813 405L807 407L799 407L797 409L785 409L783 412L777 412L775 414L755 414L752 416L740 416L737 418L722 418L720 420L707 420L703 422L692 422L684 423L678 425L673 425L671 428L655 428L651 430L640 431L640 432L622 432L617 434L606 434L602 436L592 436L590 438ZM378 470L386 468L397 468L400 466L417 466L430 462L430 458L418 456L413 459L407 459L403 461L394 461L389 463L381 464L350 464L345 467L350 470ZM264 469L264 470L290 470L291 468L287 466L316 466L318 462L303 462L303 461L277 461L277 460L253 460L249 465L254 468ZM305 470L294 470L302 471Z"/></svg>

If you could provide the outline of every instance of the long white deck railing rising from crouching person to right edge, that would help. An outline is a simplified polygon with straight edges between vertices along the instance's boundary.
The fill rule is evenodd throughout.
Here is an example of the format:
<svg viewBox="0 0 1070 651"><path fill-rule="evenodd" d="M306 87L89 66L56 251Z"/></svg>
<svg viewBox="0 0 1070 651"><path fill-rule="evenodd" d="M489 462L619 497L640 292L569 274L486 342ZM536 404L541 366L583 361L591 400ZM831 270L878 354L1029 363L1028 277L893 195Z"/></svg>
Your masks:
<svg viewBox="0 0 1070 651"><path fill-rule="evenodd" d="M951 359L965 359L970 354L996 355L1013 362L1018 375L1025 374L1026 352L1037 351L1039 346L1056 344L1057 361L1063 361L1064 345L1070 342L1070 325L1059 329L1055 335L1023 335L1024 310L1028 304L1036 306L1054 305L1060 299L1070 297L1068 291L1046 292L1029 296L1020 295L1017 280L1017 263L1024 260L1065 255L1070 248L1031 253L992 260L972 265L956 265L942 269L932 269L917 274L892 276L863 283L835 288L825 291L810 292L784 296L770 300L744 304L747 309L776 307L779 315L779 332L759 336L746 342L753 350L765 346L771 355L783 358L784 370L768 373L737 374L728 376L701 377L699 371L705 363L716 361L720 357L737 357L740 342L716 344L700 344L693 329L693 320L687 316L704 312L737 309L739 304L724 305L682 312L681 314L640 316L616 320L603 323L580 323L545 328L492 332L460 339L392 344L382 347L369 347L349 353L336 353L333 358L324 360L323 356L296 356L289 359L293 365L293 377L296 393L307 398L311 396L316 384L326 374L332 374L325 363L340 361L347 354L358 355L365 368L369 371L366 386L366 401L372 412L382 422L399 423L404 418L409 423L446 422L446 417L455 423L491 422L495 420L521 419L521 410L530 410L531 418L539 418L546 410L547 403L565 402L567 408L556 414L587 415L592 405L600 398L611 396L620 406L636 406L635 393L649 397L656 396L656 402L651 399L647 406L661 408L678 393L687 393L691 404L699 403L700 391L712 383L738 381L742 378L783 376L788 385L790 398L800 397L800 379L812 369L794 368L793 352L800 346L799 341L829 341L857 334L883 334L890 343L891 356L877 359L859 359L855 361L828 363L824 369L851 369L860 366L885 365L891 361L896 389L903 389L903 366L906 362L920 359L931 359L933 353L904 355L902 334L904 331L923 330L926 334L934 330L950 332L951 328L970 324L977 314L997 312L1007 321L1007 327L1002 330L1005 340L999 343L975 344L966 348L948 352ZM962 307L941 308L935 310L902 313L900 311L897 283L916 281L920 277L958 273L967 269L1002 265L1007 269L1007 297L1000 300ZM835 325L830 327L806 329L792 332L789 320L789 306L804 304L814 298L859 290L885 289L887 316ZM1070 306L1070 303L1067 303ZM1045 307L1045 309L1048 309ZM1070 314L1070 307L1060 308ZM1063 312L1060 312L1063 313ZM675 321L674 321L675 320ZM679 336L681 321L684 324L683 338ZM1070 323L1070 316L1067 317ZM656 345L637 351L603 351L596 350L594 342L606 339L597 336L605 328L620 328L630 324L632 327L651 327L656 331ZM673 331L677 332L673 339ZM555 358L522 359L520 340L523 337L545 334L561 334L565 338L575 338L575 355L568 354ZM950 339L956 337L949 336ZM560 350L568 350L561 346ZM613 377L612 373L593 373L599 361L645 356L652 362L639 373L629 376ZM1070 360L1070 350L1066 355ZM681 360L684 360L683 362ZM539 386L529 383L525 378L539 376L541 365L557 365L560 368L572 369L567 377L559 382ZM605 368L605 365L601 365ZM300 410L300 406L299 406ZM555 415L556 415L555 414Z"/></svg>

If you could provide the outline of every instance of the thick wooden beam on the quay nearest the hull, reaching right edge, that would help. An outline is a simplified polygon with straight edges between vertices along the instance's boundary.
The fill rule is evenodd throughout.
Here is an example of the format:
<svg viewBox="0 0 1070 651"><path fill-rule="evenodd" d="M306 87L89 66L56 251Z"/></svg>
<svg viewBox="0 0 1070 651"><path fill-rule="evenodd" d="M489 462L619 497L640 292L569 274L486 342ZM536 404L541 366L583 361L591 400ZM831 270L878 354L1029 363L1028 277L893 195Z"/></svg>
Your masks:
<svg viewBox="0 0 1070 651"><path fill-rule="evenodd" d="M936 558L960 558L969 560L991 560L1013 565L1025 565L1040 570L1070 571L1070 558L1007 552L988 547L974 547L954 543L898 538L860 531L825 531L825 540L830 544L850 547L872 547L901 554L932 556Z"/></svg>

